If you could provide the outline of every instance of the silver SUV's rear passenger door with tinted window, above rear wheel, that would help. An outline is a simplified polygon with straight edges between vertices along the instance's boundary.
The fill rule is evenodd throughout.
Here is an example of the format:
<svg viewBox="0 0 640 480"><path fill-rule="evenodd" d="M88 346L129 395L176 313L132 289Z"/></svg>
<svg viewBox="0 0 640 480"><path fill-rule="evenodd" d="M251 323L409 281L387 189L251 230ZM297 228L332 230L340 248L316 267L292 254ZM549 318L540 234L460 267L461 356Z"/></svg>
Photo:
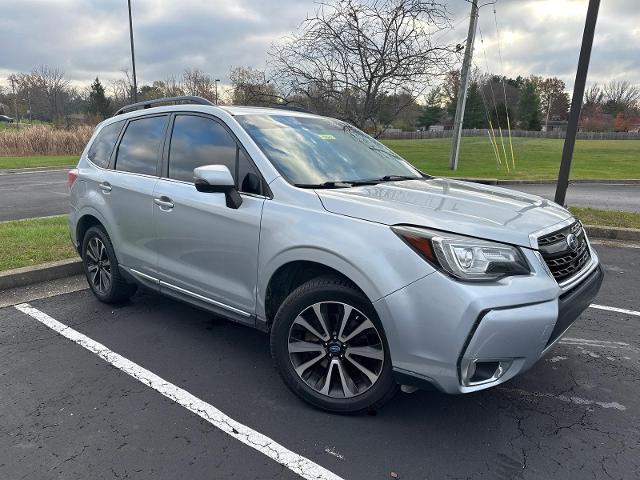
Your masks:
<svg viewBox="0 0 640 480"><path fill-rule="evenodd" d="M135 118L125 126L114 153L114 169L99 185L110 211L109 232L118 261L156 276L153 189L158 182L169 115Z"/></svg>

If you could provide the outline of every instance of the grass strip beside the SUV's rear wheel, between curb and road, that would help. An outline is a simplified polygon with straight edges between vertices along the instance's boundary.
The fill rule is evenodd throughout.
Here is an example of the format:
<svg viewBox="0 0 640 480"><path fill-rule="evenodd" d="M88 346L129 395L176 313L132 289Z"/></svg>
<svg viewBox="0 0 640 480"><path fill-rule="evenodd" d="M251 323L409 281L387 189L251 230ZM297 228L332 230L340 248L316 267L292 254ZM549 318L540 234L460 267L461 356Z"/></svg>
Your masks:
<svg viewBox="0 0 640 480"><path fill-rule="evenodd" d="M0 222L0 270L77 255L66 215Z"/></svg>

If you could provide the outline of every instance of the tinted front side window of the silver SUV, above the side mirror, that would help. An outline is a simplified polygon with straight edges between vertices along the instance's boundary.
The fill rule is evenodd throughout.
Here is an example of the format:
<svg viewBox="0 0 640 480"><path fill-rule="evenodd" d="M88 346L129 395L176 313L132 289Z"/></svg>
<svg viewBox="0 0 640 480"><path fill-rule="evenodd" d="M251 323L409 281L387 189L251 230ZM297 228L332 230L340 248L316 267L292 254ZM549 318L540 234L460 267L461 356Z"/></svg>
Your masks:
<svg viewBox="0 0 640 480"><path fill-rule="evenodd" d="M215 120L178 115L169 148L169 178L193 182L193 169L225 165L236 178L236 141Z"/></svg>

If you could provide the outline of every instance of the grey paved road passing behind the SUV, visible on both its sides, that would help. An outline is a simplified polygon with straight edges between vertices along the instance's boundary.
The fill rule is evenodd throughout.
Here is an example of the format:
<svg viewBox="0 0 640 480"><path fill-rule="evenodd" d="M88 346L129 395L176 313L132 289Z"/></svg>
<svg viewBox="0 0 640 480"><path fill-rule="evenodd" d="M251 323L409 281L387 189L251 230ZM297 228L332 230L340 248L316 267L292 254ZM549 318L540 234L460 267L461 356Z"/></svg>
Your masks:
<svg viewBox="0 0 640 480"><path fill-rule="evenodd" d="M67 171L0 175L0 221L67 213ZM509 188L553 200L554 185ZM574 184L569 205L640 212L640 185Z"/></svg>

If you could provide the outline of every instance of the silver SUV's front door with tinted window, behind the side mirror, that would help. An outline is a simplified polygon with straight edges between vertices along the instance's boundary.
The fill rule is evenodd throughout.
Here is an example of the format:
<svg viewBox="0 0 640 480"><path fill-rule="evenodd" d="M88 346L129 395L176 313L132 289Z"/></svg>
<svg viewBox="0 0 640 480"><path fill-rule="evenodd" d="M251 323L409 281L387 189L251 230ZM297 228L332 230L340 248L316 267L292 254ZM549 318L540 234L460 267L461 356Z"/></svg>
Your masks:
<svg viewBox="0 0 640 480"><path fill-rule="evenodd" d="M161 288L251 322L266 186L221 121L176 114L170 131L154 193ZM212 164L231 171L243 198L240 208L227 207L224 194L195 189L193 169Z"/></svg>

